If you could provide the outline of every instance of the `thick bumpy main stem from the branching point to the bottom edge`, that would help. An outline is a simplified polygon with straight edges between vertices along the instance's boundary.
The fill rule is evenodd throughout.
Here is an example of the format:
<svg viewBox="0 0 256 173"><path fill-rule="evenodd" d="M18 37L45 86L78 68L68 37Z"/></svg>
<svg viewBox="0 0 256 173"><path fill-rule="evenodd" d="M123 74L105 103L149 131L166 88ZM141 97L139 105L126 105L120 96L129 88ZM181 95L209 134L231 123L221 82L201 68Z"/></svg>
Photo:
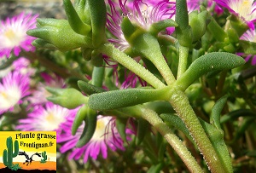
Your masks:
<svg viewBox="0 0 256 173"><path fill-rule="evenodd" d="M193 108L190 106L188 97L183 91L174 88L172 89L170 102L177 112L177 115L182 118L183 123L186 124L190 135L193 137L195 143L203 154L209 170L216 173L226 172L221 160L218 158L218 154L212 147L211 141L196 117Z"/></svg>

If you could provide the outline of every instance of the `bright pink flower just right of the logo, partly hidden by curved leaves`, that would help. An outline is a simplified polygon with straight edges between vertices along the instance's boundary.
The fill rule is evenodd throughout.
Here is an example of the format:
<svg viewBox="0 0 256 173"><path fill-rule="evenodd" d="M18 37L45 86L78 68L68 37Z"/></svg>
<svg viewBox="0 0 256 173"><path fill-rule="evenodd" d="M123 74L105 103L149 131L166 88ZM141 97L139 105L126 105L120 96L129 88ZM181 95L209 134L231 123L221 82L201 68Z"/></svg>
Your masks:
<svg viewBox="0 0 256 173"><path fill-rule="evenodd" d="M74 116L67 117L67 121L61 124L63 133L57 138L58 143L63 142L60 148L61 153L71 151L69 159L77 160L84 157L84 163L86 163L89 158L97 159L100 153L102 158L106 159L108 157L108 147L112 151L116 149L125 150L123 141L115 128L115 119L102 116L98 116L96 130L90 141L84 147L75 147L86 124L81 124L75 136L72 136L73 120ZM127 130L127 132L131 133L131 130Z"/></svg>

